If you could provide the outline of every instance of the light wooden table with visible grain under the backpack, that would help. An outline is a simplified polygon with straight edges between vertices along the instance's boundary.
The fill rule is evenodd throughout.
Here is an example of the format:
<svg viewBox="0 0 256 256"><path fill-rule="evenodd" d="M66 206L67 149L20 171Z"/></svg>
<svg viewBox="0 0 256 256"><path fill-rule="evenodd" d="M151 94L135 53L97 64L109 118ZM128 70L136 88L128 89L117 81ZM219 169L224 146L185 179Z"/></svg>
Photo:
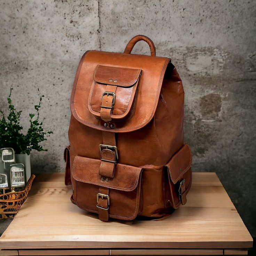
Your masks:
<svg viewBox="0 0 256 256"><path fill-rule="evenodd" d="M0 238L0 255L246 255L253 239L215 173L193 173L185 206L161 221L101 222L41 174Z"/></svg>

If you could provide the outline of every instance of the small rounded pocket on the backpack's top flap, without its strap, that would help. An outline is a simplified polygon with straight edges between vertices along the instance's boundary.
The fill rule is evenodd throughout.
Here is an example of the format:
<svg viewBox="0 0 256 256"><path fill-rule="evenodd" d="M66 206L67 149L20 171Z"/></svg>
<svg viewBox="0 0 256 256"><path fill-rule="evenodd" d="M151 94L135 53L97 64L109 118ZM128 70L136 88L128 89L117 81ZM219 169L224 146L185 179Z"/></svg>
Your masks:
<svg viewBox="0 0 256 256"><path fill-rule="evenodd" d="M122 119L128 114L128 118L130 118L134 113L140 74L141 69L97 65L88 98L88 109L91 114L101 117L102 95L106 91L107 85L114 85L117 86L117 89L115 90L115 103L111 111L111 119Z"/></svg>

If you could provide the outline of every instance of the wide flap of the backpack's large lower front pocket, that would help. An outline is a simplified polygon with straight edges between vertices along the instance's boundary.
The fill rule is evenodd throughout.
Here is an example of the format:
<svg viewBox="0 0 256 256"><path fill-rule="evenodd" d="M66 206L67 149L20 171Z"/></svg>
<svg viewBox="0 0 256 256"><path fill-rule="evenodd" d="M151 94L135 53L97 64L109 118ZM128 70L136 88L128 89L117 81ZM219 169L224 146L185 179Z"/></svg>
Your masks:
<svg viewBox="0 0 256 256"><path fill-rule="evenodd" d="M106 182L102 181L99 175L100 165L101 160L76 156L73 161L72 176L80 182L122 191L133 191L138 186L142 168L117 163L114 177Z"/></svg>

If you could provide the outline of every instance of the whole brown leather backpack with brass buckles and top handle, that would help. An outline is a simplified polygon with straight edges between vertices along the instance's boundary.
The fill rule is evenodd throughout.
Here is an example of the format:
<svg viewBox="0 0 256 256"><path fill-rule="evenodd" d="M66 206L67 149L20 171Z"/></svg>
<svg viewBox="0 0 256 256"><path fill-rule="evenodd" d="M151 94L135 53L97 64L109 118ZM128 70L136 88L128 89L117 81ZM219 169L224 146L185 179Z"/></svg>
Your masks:
<svg viewBox="0 0 256 256"><path fill-rule="evenodd" d="M136 42L151 56L131 54ZM124 53L87 51L75 75L65 184L80 208L109 217L164 217L186 203L192 156L184 91L171 60L144 35Z"/></svg>

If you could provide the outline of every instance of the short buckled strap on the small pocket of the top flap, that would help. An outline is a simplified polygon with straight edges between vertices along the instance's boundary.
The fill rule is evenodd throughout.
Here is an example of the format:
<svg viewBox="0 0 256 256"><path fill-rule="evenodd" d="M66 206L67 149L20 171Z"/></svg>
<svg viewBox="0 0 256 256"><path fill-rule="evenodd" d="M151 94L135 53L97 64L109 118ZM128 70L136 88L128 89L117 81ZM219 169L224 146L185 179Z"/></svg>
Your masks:
<svg viewBox="0 0 256 256"><path fill-rule="evenodd" d="M117 90L117 86L115 85L107 85L106 91L109 91L111 93L115 93ZM105 94L102 97L101 101L101 119L109 122L111 121L111 112L112 112L112 107L113 107L113 100L114 97L113 95L107 95Z"/></svg>

